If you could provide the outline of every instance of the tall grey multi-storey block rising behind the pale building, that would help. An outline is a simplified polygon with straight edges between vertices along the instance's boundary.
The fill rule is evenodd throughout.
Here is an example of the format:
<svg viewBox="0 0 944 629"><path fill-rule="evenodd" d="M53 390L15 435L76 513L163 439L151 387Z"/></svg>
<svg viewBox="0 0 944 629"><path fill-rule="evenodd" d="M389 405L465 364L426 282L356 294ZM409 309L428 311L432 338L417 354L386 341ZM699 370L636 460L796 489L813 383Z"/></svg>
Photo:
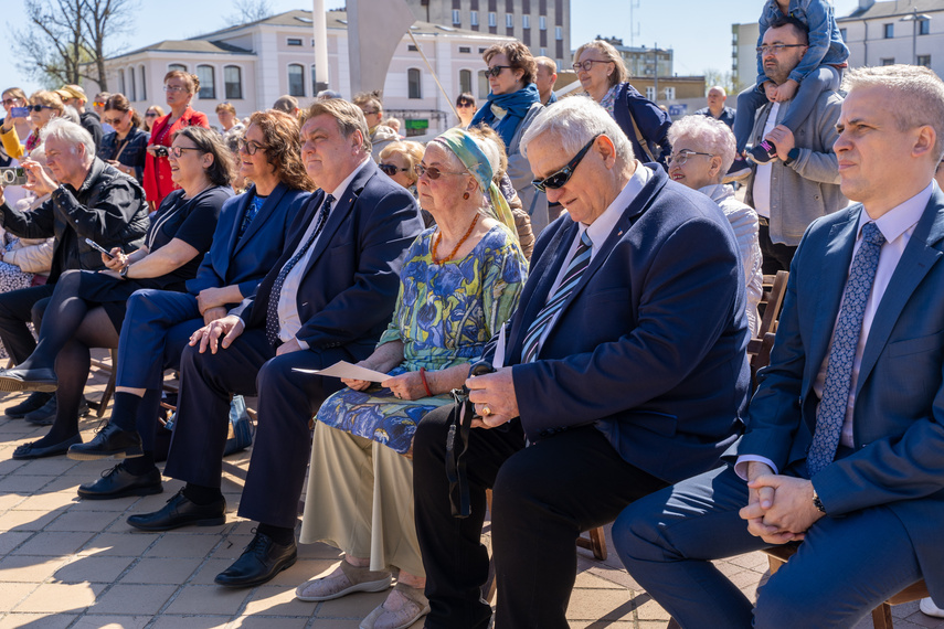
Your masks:
<svg viewBox="0 0 944 629"><path fill-rule="evenodd" d="M417 20L520 40L558 68L571 61L571 0L406 0Z"/></svg>

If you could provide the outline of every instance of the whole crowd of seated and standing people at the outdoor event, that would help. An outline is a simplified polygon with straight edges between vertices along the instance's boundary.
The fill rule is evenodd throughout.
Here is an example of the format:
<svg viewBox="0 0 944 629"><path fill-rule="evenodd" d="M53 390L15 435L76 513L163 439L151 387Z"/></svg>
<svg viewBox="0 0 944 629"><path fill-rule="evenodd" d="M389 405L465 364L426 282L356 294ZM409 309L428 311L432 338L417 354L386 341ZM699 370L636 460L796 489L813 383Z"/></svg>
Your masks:
<svg viewBox="0 0 944 629"><path fill-rule="evenodd" d="M847 70L831 11L768 0L757 84L676 121L605 41L560 100L553 61L495 44L488 99L459 95L425 146L380 93L245 120L221 103L215 130L180 71L142 117L121 94L4 90L0 159L29 181L0 186L0 391L50 426L13 458L115 458L82 499L169 477L130 526L221 524L231 399L256 396L255 535L215 583L296 562L305 492L300 543L343 559L296 597L395 579L365 628L566 627L575 540L613 521L682 627L849 627L921 578L944 616L944 82ZM745 171L742 202L725 181ZM92 348L117 349L116 390L83 443ZM710 562L800 541L756 604Z"/></svg>

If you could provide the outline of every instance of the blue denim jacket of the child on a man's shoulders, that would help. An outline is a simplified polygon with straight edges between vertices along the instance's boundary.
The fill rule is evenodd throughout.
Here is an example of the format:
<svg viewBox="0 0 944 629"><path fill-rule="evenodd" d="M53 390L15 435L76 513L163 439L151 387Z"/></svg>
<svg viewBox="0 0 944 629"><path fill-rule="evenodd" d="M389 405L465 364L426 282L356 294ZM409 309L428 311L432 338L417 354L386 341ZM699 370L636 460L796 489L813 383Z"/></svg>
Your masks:
<svg viewBox="0 0 944 629"><path fill-rule="evenodd" d="M809 26L809 47L799 64L789 73L789 78L802 83L807 74L820 65L842 64L849 58L849 49L839 34L832 7L826 0L789 0L789 14ZM776 0L767 0L764 12L761 13L759 47L764 43L764 33L771 28L771 23L783 17ZM764 74L764 62L757 56L759 89L765 81L767 75Z"/></svg>

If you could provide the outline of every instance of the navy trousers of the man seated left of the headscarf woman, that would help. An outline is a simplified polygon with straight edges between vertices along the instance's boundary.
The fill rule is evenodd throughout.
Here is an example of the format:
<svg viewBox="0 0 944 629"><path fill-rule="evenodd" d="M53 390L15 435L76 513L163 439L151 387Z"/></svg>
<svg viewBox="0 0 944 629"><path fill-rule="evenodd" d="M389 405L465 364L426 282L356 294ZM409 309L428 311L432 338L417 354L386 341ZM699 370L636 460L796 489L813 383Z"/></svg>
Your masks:
<svg viewBox="0 0 944 629"><path fill-rule="evenodd" d="M258 395L258 426L240 515L295 527L311 449L308 420L325 397L343 385L335 377L293 369L323 369L339 360L352 356L341 348L276 356L261 328L246 330L215 354L188 345L180 359L177 425L163 473L220 487L230 396Z"/></svg>

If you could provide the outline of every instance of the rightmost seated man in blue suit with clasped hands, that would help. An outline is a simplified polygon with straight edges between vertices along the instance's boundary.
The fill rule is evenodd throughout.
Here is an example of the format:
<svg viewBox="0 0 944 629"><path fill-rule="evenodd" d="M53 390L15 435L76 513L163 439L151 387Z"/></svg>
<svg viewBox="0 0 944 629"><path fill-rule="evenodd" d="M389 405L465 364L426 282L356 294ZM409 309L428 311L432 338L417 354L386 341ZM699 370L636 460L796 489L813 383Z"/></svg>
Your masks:
<svg viewBox="0 0 944 629"><path fill-rule="evenodd" d="M851 627L922 576L944 600L944 83L895 65L846 88L834 148L859 203L799 244L736 461L613 529L682 627ZM709 562L800 540L753 609Z"/></svg>

